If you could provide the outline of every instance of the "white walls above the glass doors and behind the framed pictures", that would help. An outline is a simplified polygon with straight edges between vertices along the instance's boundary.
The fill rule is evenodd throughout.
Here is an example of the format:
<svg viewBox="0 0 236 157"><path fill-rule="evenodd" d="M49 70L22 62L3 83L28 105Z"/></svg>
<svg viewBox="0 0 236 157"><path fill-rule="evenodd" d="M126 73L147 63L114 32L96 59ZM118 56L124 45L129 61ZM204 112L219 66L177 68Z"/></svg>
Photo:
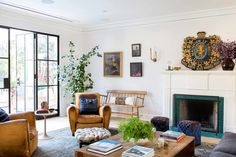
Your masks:
<svg viewBox="0 0 236 157"><path fill-rule="evenodd" d="M188 20L172 20L175 22L160 22L156 24L133 27L113 28L106 30L81 32L73 24L55 22L34 15L19 14L0 8L0 25L23 28L33 31L56 34L60 36L60 55L68 51L68 42L72 40L79 51L89 50L95 45L100 46L101 52L123 52L123 77L103 77L102 58L94 57L88 67L95 81L94 91L105 93L107 89L146 90L148 96L145 108L142 109L144 118L163 114L162 72L166 69L167 61L175 66L182 66L182 43L187 36L196 36L198 31L206 31L207 35L217 34L223 40L236 39L236 15L225 15L205 18L188 18ZM131 44L141 43L142 56L131 57ZM78 47L77 47L78 48ZM149 49L158 52L158 61L149 58ZM82 51L81 51L82 50ZM143 77L130 77L130 62L143 62ZM182 69L186 69L182 66ZM221 70L217 67L214 70ZM63 91L63 87L62 87ZM70 100L61 93L61 115L66 114Z"/></svg>

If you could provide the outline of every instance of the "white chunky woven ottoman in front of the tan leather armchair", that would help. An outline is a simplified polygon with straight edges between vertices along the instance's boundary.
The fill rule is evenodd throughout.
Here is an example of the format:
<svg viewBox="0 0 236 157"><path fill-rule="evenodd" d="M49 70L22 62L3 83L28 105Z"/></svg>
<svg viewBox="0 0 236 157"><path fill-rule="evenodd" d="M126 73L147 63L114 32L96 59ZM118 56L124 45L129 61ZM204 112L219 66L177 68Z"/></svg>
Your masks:
<svg viewBox="0 0 236 157"><path fill-rule="evenodd" d="M111 136L110 131L105 128L83 128L77 129L75 132L75 139L82 145L88 145L95 141L105 139Z"/></svg>

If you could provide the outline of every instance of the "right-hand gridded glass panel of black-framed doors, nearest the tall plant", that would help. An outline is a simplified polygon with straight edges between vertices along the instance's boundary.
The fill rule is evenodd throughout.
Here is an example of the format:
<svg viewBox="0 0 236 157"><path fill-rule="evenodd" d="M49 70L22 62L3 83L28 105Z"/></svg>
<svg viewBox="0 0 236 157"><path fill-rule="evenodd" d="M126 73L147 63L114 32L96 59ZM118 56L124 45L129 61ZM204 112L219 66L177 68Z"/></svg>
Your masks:
<svg viewBox="0 0 236 157"><path fill-rule="evenodd" d="M58 110L58 37L37 34L38 108L43 101Z"/></svg>

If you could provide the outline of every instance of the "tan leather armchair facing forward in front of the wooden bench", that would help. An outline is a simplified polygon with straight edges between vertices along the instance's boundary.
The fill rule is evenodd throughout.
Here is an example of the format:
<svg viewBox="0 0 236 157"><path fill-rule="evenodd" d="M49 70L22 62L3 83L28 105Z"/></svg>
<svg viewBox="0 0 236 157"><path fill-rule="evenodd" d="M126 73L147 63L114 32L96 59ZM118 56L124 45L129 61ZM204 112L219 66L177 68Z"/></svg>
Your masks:
<svg viewBox="0 0 236 157"><path fill-rule="evenodd" d="M70 129L72 136L78 128L108 128L111 117L110 106L100 105L100 94L99 93L76 93L76 104L71 105L67 108L67 115L69 117ZM97 99L97 106L99 114L80 114L80 98Z"/></svg>

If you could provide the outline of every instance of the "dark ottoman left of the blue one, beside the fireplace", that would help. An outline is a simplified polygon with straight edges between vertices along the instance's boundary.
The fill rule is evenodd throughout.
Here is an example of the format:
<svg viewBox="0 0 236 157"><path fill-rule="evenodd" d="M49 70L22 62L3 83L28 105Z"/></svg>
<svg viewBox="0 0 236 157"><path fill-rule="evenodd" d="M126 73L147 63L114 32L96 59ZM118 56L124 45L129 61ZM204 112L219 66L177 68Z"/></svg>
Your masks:
<svg viewBox="0 0 236 157"><path fill-rule="evenodd" d="M155 126L156 131L167 131L169 130L169 118L155 116L151 119L151 123Z"/></svg>

